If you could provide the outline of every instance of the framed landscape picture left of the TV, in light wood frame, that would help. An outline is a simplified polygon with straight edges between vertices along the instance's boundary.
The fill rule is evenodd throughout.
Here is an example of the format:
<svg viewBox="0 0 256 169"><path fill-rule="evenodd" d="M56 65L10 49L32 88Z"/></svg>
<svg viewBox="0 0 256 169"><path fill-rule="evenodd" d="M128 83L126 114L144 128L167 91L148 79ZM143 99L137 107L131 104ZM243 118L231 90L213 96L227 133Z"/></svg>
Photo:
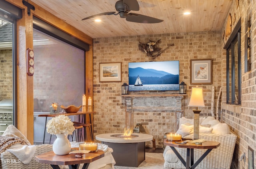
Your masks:
<svg viewBox="0 0 256 169"><path fill-rule="evenodd" d="M100 82L121 82L121 62L100 63Z"/></svg>

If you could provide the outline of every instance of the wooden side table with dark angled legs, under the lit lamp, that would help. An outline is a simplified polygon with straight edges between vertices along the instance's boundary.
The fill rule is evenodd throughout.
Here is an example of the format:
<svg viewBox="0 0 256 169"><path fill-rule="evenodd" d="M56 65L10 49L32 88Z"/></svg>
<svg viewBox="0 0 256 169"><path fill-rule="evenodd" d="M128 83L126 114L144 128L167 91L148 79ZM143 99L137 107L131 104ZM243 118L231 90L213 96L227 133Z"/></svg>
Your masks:
<svg viewBox="0 0 256 169"><path fill-rule="evenodd" d="M178 141L182 142L182 141ZM182 164L186 167L186 169L194 169L196 166L206 157L212 149L216 149L220 146L219 142L216 141L204 141L202 144L195 144L195 143L186 143L186 144L178 144L175 143L175 141L167 141L164 139L164 145L169 145L174 151L174 153L177 155L177 157L180 159ZM180 155L180 153L176 150L175 147L179 148L186 148L187 149L187 155L186 155L186 161L183 159L183 157ZM206 149L204 154L194 163L194 149ZM191 164L189 163L189 160ZM191 166L191 167L190 167Z"/></svg>

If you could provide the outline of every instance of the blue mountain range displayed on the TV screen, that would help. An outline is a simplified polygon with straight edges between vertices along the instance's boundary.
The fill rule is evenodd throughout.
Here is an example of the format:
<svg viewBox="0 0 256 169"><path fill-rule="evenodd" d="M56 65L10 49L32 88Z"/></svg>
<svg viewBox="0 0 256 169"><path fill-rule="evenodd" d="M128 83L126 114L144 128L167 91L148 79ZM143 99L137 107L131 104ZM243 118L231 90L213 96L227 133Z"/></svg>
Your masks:
<svg viewBox="0 0 256 169"><path fill-rule="evenodd" d="M129 68L129 85L136 82L140 77L142 84L179 84L179 75L170 74L168 72L143 69L143 68Z"/></svg>

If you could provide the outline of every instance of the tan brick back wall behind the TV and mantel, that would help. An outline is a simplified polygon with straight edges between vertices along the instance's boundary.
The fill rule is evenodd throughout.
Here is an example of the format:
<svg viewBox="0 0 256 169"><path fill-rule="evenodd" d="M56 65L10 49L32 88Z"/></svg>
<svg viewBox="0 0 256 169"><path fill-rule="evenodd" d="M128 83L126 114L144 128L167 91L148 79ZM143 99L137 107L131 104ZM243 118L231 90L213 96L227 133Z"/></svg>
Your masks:
<svg viewBox="0 0 256 169"><path fill-rule="evenodd" d="M211 97L212 86L215 87L215 106L214 113L216 114L216 99L221 87L222 77L222 35L221 32L190 32L177 34L158 34L144 36L125 36L125 37L110 37L94 39L94 133L122 133L125 125L125 105L121 97L121 85L128 83L128 63L129 62L149 62L152 61L145 53L138 49L138 43L160 40L158 47L164 49L169 44L174 44L162 53L154 61L179 60L180 61L180 82L184 81L187 84L187 96L184 97L184 116L193 118L192 109L188 108L190 98L190 60L191 59L213 59L213 84L199 85L204 88L205 105L202 109L201 116L211 115ZM122 82L99 82L99 64L100 62L122 62ZM133 92L137 93L161 93L170 94L178 93L178 91L144 91ZM152 134L156 140L156 146L162 147L163 133L175 131L174 127L170 127L163 123L164 114L143 112L144 115L158 115L147 121L149 125L154 124L154 132ZM144 117L140 119L144 120ZM167 119L172 122L172 119ZM134 121L136 124L136 121ZM152 129L151 129L152 131ZM151 147L151 143L146 143L146 146Z"/></svg>

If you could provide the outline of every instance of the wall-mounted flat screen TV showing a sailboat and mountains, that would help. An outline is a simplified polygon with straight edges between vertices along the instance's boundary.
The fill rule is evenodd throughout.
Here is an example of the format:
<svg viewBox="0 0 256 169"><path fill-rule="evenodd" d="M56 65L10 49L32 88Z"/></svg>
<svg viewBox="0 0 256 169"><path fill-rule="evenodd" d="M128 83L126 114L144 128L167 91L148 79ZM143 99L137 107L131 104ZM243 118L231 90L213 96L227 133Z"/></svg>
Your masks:
<svg viewBox="0 0 256 169"><path fill-rule="evenodd" d="M130 62L129 91L179 90L179 61Z"/></svg>

